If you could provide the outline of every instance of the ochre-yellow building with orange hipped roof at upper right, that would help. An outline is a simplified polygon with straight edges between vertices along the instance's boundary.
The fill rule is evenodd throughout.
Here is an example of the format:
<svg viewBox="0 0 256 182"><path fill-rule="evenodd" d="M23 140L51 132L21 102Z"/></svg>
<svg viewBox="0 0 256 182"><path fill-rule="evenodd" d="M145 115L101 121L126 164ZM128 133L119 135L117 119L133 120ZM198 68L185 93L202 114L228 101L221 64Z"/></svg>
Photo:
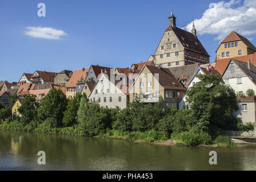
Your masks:
<svg viewBox="0 0 256 182"><path fill-rule="evenodd" d="M216 60L251 55L255 51L256 47L248 39L233 31L219 45Z"/></svg>

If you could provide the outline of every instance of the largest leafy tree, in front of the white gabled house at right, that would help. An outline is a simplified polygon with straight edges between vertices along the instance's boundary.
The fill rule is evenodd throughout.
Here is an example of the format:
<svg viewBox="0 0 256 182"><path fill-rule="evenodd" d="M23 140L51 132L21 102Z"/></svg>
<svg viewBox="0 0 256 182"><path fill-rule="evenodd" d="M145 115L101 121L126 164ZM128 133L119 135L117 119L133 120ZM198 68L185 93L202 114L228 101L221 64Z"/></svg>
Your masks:
<svg viewBox="0 0 256 182"><path fill-rule="evenodd" d="M225 129L234 126L233 112L238 110L237 99L221 78L213 73L198 74L199 82L187 90L191 114L202 130Z"/></svg>

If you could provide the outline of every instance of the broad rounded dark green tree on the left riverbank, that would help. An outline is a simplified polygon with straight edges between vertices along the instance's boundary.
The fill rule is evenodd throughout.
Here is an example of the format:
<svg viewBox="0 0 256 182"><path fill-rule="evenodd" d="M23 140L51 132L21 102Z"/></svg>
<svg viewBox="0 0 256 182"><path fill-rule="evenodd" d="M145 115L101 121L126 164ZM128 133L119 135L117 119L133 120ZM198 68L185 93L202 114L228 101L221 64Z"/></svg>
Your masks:
<svg viewBox="0 0 256 182"><path fill-rule="evenodd" d="M38 107L38 119L45 121L46 118L55 118L58 122L57 127L59 127L62 125L63 112L66 110L66 106L65 94L60 89L53 88L42 99Z"/></svg>

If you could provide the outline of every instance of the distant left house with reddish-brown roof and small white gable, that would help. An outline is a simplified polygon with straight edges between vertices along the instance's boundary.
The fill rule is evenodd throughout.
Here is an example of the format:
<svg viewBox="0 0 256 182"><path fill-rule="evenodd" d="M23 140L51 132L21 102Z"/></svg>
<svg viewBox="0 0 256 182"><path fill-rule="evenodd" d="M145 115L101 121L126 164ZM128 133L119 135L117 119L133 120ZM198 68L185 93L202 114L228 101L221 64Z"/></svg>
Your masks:
<svg viewBox="0 0 256 182"><path fill-rule="evenodd" d="M35 71L30 77L31 84L54 84L54 77L57 73L46 71Z"/></svg>

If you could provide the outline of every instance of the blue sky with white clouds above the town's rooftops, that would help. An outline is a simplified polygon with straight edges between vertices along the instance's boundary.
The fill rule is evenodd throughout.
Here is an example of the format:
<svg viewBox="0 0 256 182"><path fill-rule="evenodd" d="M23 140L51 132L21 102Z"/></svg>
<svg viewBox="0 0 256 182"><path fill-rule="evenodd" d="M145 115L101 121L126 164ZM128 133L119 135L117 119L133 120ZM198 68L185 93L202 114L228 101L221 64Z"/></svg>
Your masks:
<svg viewBox="0 0 256 182"><path fill-rule="evenodd" d="M37 15L41 2L46 17ZM130 67L146 61L168 26L171 9L177 26L187 30L194 17L211 61L220 40L232 30L256 44L254 0L1 0L0 9L0 80L9 82L35 70L74 71L91 64ZM54 37L35 38L38 27L49 28L42 31Z"/></svg>

